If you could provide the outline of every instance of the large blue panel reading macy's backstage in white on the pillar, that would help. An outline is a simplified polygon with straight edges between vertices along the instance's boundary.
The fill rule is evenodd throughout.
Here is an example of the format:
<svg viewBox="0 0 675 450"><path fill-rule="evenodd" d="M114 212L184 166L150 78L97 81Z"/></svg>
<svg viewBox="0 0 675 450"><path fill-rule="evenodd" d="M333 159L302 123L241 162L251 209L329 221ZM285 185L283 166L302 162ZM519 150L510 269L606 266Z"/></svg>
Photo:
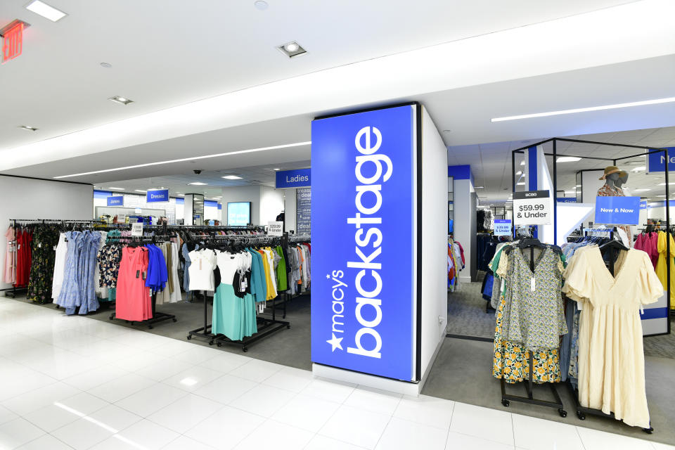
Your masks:
<svg viewBox="0 0 675 450"><path fill-rule="evenodd" d="M414 109L311 123L311 360L415 378Z"/></svg>

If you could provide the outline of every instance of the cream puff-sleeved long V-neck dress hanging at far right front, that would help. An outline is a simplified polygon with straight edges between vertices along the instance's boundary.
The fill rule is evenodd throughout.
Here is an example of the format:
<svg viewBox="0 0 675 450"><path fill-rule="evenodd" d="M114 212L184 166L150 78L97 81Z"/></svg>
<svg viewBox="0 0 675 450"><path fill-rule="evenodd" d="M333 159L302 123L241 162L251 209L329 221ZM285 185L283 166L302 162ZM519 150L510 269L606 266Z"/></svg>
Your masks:
<svg viewBox="0 0 675 450"><path fill-rule="evenodd" d="M656 302L663 289L648 255L622 251L612 276L598 247L581 248L565 270L563 291L581 309L579 403L649 428L639 310Z"/></svg>

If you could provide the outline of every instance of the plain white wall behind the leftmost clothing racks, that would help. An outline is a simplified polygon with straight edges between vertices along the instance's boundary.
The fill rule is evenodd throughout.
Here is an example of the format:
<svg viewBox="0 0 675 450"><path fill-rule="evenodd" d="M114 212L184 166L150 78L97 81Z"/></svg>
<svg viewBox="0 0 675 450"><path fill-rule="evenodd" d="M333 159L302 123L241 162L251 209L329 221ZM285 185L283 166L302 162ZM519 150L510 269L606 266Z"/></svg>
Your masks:
<svg viewBox="0 0 675 450"><path fill-rule="evenodd" d="M6 230L9 219L91 220L94 186L58 181L0 176L0 224ZM7 240L0 239L4 273ZM3 283L3 288L11 285Z"/></svg>

